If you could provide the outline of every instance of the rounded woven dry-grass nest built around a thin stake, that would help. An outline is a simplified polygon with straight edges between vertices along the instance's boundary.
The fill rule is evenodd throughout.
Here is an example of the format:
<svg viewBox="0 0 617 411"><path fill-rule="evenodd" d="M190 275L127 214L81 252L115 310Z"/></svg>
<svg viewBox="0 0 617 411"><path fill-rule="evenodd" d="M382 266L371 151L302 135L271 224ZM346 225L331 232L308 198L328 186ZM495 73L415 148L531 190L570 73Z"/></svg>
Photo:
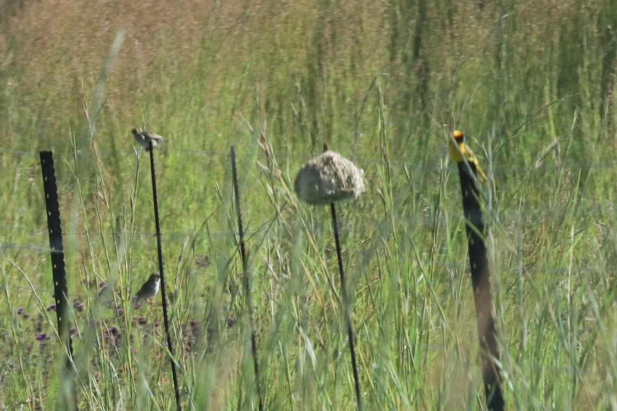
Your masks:
<svg viewBox="0 0 617 411"><path fill-rule="evenodd" d="M311 205L358 198L365 190L364 171L328 150L300 168L294 190L300 200Z"/></svg>

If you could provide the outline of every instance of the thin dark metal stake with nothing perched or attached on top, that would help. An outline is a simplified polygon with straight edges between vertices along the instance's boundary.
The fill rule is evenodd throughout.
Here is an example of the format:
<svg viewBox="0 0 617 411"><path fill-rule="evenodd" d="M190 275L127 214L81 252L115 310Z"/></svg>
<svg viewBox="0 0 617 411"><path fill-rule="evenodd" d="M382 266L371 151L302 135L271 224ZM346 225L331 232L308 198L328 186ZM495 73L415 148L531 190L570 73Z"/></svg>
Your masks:
<svg viewBox="0 0 617 411"><path fill-rule="evenodd" d="M253 371L255 373L255 385L259 398L259 411L263 411L262 389L259 380L259 363L257 361L257 343L255 342L255 327L253 325L253 308L251 305L251 283L247 270L246 251L244 249L244 230L242 229L242 214L240 213L240 192L238 190L238 172L236 171L236 146L231 146L231 174L233 176L233 190L236 197L236 214L238 215L238 237L240 242L240 258L242 259L242 287L246 297L246 311L249 316L249 328L251 330L251 354L253 356Z"/></svg>

